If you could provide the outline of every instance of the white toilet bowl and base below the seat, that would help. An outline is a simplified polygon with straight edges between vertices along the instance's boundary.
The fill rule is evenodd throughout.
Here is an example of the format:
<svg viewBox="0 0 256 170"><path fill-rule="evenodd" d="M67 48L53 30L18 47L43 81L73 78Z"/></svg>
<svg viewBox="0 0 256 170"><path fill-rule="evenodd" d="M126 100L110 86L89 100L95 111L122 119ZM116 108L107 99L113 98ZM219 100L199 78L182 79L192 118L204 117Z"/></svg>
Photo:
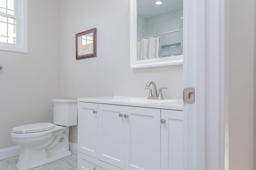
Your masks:
<svg viewBox="0 0 256 170"><path fill-rule="evenodd" d="M69 151L68 143L69 127L58 128L55 131L52 130L52 132L38 137L13 138L13 141L17 144L21 144L16 168L28 170L70 156L71 152Z"/></svg>

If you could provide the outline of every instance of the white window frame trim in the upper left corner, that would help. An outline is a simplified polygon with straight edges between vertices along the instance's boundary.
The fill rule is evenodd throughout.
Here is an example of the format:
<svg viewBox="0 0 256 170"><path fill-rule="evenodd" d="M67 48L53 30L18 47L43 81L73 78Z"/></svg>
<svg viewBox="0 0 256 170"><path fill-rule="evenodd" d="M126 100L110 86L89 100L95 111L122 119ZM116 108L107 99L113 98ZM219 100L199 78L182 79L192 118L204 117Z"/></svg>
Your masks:
<svg viewBox="0 0 256 170"><path fill-rule="evenodd" d="M0 42L0 50L28 53L28 0L17 0L16 44Z"/></svg>

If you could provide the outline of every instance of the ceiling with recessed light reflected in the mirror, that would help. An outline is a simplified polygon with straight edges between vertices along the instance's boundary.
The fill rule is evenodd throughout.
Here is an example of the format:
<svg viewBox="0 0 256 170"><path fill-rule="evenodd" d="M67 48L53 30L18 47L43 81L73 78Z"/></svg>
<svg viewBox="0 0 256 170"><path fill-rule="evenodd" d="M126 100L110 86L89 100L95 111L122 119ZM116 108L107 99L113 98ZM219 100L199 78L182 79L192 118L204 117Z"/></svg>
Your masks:
<svg viewBox="0 0 256 170"><path fill-rule="evenodd" d="M161 5L156 5L161 1ZM138 15L150 18L183 8L183 0L137 0Z"/></svg>

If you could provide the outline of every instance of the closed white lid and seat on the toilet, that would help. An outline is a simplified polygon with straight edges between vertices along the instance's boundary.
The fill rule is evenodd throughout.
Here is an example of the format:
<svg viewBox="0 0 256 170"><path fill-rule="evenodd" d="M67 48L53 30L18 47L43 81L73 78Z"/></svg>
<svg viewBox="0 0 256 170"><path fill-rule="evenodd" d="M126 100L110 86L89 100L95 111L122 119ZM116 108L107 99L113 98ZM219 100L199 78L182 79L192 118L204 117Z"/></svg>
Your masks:
<svg viewBox="0 0 256 170"><path fill-rule="evenodd" d="M28 125L22 125L18 127L14 127L12 129L13 133L34 133L41 131L48 131L54 128L54 124L52 123L33 123Z"/></svg>

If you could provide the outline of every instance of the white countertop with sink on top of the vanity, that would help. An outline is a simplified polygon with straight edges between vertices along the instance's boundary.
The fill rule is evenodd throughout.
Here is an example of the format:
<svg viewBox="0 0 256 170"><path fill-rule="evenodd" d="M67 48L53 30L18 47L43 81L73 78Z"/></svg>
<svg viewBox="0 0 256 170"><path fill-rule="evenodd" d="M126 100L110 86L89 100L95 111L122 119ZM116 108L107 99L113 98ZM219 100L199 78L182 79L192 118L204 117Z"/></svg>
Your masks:
<svg viewBox="0 0 256 170"><path fill-rule="evenodd" d="M180 100L180 99L165 99L165 100L173 100L173 101L161 103L161 104L117 101L119 99L127 99L127 98L137 98L137 97L113 96L113 97L99 97L99 98L78 98L78 102L183 110L183 100ZM147 98L138 98L138 99L147 99Z"/></svg>

